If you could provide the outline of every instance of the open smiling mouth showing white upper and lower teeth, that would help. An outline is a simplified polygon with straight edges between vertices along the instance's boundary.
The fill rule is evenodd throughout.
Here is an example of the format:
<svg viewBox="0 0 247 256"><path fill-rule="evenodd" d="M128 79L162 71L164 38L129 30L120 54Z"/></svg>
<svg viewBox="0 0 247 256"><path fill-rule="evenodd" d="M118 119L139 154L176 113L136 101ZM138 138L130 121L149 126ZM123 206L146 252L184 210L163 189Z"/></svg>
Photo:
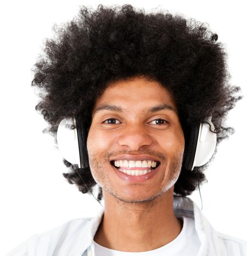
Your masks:
<svg viewBox="0 0 247 256"><path fill-rule="evenodd" d="M130 162L128 162L127 160L125 162L124 160L118 160L118 161L112 160L110 164L113 165L114 168L116 168L117 170L131 176L141 176L141 175L148 174L149 172L158 168L160 165L160 162L158 161L149 161L149 160L136 161L136 162L130 161Z"/></svg>

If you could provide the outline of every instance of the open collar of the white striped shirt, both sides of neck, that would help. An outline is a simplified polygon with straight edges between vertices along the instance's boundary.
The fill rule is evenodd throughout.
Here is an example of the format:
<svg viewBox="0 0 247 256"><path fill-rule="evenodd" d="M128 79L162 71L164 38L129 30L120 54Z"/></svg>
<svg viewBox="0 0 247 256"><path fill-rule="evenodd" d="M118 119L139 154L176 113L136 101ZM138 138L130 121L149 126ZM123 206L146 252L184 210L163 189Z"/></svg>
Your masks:
<svg viewBox="0 0 247 256"><path fill-rule="evenodd" d="M195 222L195 230L197 231L201 246L198 256L217 256L221 255L220 248L217 246L218 237L217 232L211 226L209 221L205 218L197 204L189 197L174 196L173 209L177 218L186 216L193 218ZM104 214L104 207L102 207L97 215L90 219L81 230L82 244L78 255L93 255L93 238L98 230L99 224ZM76 254L76 255L77 255Z"/></svg>

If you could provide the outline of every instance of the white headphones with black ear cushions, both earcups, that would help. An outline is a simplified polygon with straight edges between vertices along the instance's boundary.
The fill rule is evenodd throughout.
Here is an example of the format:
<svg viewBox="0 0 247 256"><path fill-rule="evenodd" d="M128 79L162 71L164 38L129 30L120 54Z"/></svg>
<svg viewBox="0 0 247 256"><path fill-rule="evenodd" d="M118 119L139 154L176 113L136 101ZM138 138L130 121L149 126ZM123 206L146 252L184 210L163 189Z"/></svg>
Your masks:
<svg viewBox="0 0 247 256"><path fill-rule="evenodd" d="M195 166L206 164L214 154L217 142L216 133L210 131L211 122L200 123L191 127L188 141L184 148L182 167L193 171ZM210 124L210 125L209 125ZM87 153L87 135L89 128L79 123L77 116L61 120L57 131L57 144L63 158L71 164L77 164L80 168L89 168Z"/></svg>

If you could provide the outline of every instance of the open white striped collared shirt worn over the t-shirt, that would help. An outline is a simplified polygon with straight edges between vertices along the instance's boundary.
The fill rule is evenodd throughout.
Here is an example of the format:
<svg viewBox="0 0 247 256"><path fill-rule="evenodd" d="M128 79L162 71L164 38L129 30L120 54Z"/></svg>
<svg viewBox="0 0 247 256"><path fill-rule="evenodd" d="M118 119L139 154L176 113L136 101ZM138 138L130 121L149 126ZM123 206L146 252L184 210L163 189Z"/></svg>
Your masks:
<svg viewBox="0 0 247 256"><path fill-rule="evenodd" d="M217 232L188 197L174 197L177 218L194 219L201 242L198 256L247 256L247 241ZM31 236L7 256L94 256L93 237L104 209L94 218L74 219L48 232Z"/></svg>

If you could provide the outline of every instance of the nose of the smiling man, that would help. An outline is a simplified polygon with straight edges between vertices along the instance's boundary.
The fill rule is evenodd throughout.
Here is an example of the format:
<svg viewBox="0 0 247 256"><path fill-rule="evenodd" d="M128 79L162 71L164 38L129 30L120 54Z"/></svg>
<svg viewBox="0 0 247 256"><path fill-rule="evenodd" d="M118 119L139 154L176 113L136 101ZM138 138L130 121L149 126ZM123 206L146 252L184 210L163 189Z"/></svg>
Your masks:
<svg viewBox="0 0 247 256"><path fill-rule="evenodd" d="M143 146L150 146L153 139L147 127L143 125L131 125L126 127L118 138L120 146L126 146L132 151L138 151Z"/></svg>

